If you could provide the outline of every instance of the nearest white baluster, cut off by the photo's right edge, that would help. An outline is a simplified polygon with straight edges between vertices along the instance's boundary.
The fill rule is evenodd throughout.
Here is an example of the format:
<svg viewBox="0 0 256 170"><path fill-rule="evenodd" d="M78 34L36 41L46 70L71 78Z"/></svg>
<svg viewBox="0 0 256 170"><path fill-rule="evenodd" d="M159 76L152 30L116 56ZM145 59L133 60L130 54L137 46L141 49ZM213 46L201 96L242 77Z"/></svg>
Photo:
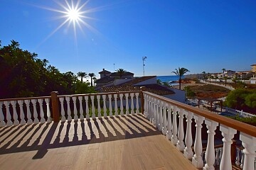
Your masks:
<svg viewBox="0 0 256 170"><path fill-rule="evenodd" d="M242 146L245 147L245 149L242 150L245 154L242 169L255 169L256 137L240 132L240 140L242 141Z"/></svg>

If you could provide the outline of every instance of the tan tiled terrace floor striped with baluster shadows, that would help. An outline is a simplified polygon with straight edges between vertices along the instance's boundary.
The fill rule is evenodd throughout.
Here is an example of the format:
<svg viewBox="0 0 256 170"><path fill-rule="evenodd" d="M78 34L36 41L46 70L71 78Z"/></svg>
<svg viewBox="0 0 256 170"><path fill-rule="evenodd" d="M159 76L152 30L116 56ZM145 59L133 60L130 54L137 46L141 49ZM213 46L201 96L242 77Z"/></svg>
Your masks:
<svg viewBox="0 0 256 170"><path fill-rule="evenodd" d="M195 169L142 115L0 128L0 169Z"/></svg>

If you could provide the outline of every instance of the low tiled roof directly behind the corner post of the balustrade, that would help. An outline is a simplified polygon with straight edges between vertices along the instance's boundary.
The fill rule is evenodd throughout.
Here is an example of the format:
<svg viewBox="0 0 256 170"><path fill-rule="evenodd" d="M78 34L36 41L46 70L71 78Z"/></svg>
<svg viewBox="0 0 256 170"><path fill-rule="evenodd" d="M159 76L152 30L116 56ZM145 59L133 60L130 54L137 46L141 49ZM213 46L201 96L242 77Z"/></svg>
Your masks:
<svg viewBox="0 0 256 170"><path fill-rule="evenodd" d="M174 91L168 89L164 86L159 84L146 84L142 85L146 87L146 91L151 92L152 94L158 95L168 95L168 94L175 94ZM120 92L120 91L140 91L140 86L107 86L102 87L100 92L102 93L110 93L110 92Z"/></svg>

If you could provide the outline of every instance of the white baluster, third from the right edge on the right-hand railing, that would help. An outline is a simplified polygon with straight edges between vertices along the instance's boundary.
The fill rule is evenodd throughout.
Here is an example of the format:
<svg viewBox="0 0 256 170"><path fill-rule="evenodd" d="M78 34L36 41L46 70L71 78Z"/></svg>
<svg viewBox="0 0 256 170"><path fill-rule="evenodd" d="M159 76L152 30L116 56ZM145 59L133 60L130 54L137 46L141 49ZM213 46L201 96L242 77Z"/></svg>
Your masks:
<svg viewBox="0 0 256 170"><path fill-rule="evenodd" d="M214 135L215 130L218 126L218 123L206 119L205 120L206 127L208 128L208 140L207 140L207 147L206 147L206 164L203 167L204 170L206 169L214 169L213 164L215 163L215 150L214 150Z"/></svg>

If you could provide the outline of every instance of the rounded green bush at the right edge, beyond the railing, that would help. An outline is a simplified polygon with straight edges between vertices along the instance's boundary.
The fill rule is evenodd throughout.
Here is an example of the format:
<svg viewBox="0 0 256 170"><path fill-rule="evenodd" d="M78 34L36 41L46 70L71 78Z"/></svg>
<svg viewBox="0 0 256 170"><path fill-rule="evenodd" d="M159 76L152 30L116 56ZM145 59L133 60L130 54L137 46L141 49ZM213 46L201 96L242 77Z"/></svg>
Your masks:
<svg viewBox="0 0 256 170"><path fill-rule="evenodd" d="M225 100L225 106L252 113L256 108L256 90L235 89L230 91Z"/></svg>

